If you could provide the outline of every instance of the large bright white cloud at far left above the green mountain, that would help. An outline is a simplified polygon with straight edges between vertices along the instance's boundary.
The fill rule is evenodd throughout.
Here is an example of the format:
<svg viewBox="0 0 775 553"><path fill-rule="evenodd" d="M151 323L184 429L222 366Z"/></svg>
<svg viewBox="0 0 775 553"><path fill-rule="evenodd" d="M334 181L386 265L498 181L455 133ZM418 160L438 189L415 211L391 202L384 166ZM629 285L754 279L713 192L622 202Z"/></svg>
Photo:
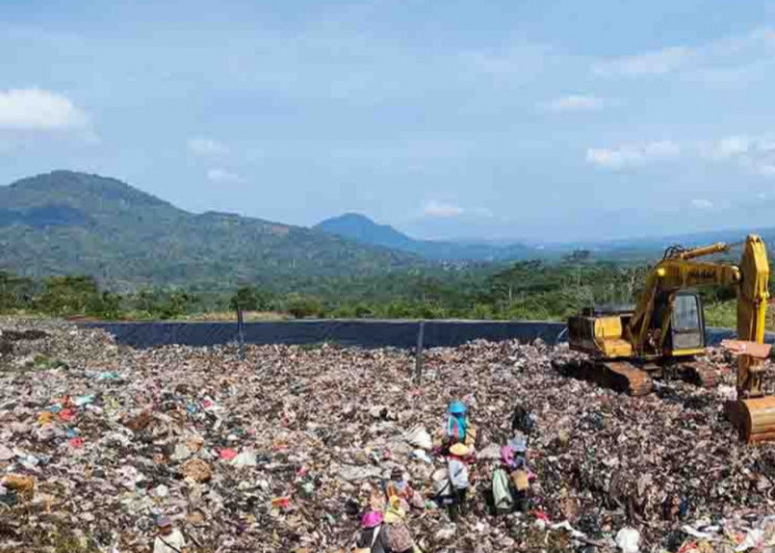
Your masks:
<svg viewBox="0 0 775 553"><path fill-rule="evenodd" d="M86 115L60 94L41 88L0 91L0 128L58 131L86 126Z"/></svg>

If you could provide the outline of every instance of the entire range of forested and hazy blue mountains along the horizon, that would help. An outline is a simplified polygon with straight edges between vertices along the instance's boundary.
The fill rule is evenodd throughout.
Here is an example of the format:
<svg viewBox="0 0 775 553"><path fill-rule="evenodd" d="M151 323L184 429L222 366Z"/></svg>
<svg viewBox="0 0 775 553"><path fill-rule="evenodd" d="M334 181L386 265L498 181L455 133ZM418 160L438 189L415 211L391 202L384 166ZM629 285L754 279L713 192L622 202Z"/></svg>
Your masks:
<svg viewBox="0 0 775 553"><path fill-rule="evenodd" d="M775 229L758 232L775 247ZM190 213L120 180L83 173L53 171L0 186L0 270L91 274L120 290L231 289L244 282L385 274L442 261L559 259L575 249L589 249L596 259L642 261L657 259L671 243L736 242L744 236L719 230L545 246L416 240L358 213L312 229L234 213Z"/></svg>

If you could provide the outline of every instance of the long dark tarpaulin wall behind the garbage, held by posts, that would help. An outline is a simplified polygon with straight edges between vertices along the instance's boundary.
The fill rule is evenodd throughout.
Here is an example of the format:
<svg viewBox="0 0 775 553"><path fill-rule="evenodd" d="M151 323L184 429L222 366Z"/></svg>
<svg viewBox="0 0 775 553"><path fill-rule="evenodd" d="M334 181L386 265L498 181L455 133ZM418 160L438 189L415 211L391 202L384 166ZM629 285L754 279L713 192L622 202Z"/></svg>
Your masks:
<svg viewBox="0 0 775 553"><path fill-rule="evenodd" d="M424 346L456 346L472 340L536 338L555 344L567 340L564 323L530 321L425 321ZM211 346L236 342L237 323L81 323L87 328L103 328L120 344L154 347L169 344ZM256 322L245 324L247 344L320 344L337 343L358 347L413 348L417 344L418 321L320 320ZM709 345L719 345L735 333L724 328L707 328ZM766 341L775 342L767 333Z"/></svg>

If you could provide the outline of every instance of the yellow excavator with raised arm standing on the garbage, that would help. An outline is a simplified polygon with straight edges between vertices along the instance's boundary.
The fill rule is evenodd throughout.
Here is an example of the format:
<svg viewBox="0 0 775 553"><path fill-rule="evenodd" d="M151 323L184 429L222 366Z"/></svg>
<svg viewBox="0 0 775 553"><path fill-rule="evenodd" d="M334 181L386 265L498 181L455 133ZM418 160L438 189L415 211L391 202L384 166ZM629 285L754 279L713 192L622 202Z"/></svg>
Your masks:
<svg viewBox="0 0 775 553"><path fill-rule="evenodd" d="M765 314L769 263L764 241L754 234L743 244L740 264L703 261L733 246L669 248L645 280L634 310L583 310L568 321L570 348L589 359L569 367L631 395L651 392L652 377L680 373L699 384L714 384L713 369L696 359L705 352L702 301L693 289L732 286L737 295L737 399L726 406L730 419L748 442L775 440L775 397L762 390Z"/></svg>

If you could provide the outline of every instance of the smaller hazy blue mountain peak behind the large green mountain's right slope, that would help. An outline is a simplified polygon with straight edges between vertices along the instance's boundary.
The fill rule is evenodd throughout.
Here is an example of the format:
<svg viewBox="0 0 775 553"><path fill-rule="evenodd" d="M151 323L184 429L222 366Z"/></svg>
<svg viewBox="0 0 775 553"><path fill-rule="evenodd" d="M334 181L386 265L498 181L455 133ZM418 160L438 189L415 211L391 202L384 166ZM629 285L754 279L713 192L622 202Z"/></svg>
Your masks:
<svg viewBox="0 0 775 553"><path fill-rule="evenodd" d="M389 225L378 225L360 213L344 213L319 222L313 228L363 244L416 253L428 260L506 261L541 257L539 251L520 243L499 246L485 242L415 240Z"/></svg>

